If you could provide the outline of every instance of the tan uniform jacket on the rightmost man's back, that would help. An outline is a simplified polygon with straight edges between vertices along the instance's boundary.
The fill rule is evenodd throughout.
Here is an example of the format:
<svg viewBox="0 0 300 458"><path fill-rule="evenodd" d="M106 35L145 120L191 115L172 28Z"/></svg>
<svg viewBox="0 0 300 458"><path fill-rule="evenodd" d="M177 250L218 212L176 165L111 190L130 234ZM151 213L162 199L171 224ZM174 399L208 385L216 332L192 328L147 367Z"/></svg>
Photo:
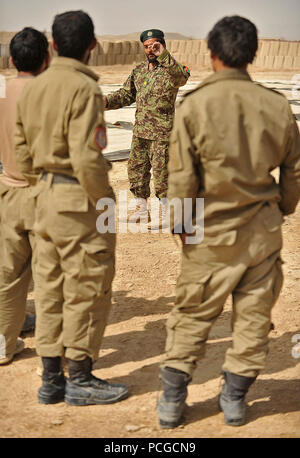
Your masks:
<svg viewBox="0 0 300 458"><path fill-rule="evenodd" d="M186 96L169 154L168 198L203 197L207 234L245 224L267 201L288 215L299 200L300 136L289 103L247 72L217 72Z"/></svg>

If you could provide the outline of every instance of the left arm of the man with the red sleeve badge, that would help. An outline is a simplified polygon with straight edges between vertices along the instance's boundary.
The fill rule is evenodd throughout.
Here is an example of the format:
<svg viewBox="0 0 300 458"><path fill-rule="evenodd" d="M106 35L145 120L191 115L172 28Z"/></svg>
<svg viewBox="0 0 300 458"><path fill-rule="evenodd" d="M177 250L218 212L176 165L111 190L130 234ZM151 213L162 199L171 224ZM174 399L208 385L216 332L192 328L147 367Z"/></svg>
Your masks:
<svg viewBox="0 0 300 458"><path fill-rule="evenodd" d="M38 179L38 174L33 172L33 160L26 142L19 104L17 107L17 121L15 126L14 143L16 163L19 171L26 178L30 185L35 185Z"/></svg>

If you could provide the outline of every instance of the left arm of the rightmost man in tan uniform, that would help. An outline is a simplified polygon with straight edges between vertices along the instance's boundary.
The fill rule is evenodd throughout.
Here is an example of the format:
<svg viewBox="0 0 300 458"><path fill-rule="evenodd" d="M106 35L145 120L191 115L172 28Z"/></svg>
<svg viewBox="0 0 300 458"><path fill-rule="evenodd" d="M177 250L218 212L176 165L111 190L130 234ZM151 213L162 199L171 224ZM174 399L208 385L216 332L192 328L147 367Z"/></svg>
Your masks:
<svg viewBox="0 0 300 458"><path fill-rule="evenodd" d="M201 181L199 177L198 156L193 143L191 119L184 103L177 108L169 143L168 162L168 200L176 199L181 203L181 215L170 208L170 228L176 227L184 219L184 199L192 199L193 207Z"/></svg>

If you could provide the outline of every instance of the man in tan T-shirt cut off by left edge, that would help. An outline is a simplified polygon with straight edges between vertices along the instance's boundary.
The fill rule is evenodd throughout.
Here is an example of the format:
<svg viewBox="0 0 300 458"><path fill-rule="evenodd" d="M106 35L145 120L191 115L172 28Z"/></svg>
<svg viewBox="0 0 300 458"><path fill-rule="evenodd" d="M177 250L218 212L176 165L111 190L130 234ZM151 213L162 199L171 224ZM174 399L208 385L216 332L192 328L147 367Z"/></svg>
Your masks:
<svg viewBox="0 0 300 458"><path fill-rule="evenodd" d="M9 363L24 348L18 336L24 329L34 246L34 199L14 151L17 101L24 86L47 68L48 40L26 27L11 40L10 53L18 74L8 81L6 97L0 99L0 364Z"/></svg>

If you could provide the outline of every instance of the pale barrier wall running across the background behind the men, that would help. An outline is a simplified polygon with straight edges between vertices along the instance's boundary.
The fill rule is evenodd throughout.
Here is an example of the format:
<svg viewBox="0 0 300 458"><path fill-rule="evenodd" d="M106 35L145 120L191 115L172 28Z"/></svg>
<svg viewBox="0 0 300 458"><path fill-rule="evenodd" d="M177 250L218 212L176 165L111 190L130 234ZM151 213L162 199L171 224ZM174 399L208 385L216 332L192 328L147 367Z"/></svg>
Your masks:
<svg viewBox="0 0 300 458"><path fill-rule="evenodd" d="M174 58L183 65L197 69L210 68L209 51L205 40L166 40L166 44ZM54 55L51 46L49 49L51 55ZM92 51L89 65L131 65L143 59L143 46L139 41L102 41L97 42L96 48ZM0 69L11 67L9 44L6 41L0 44ZM300 70L300 41L259 40L252 68L257 70Z"/></svg>

